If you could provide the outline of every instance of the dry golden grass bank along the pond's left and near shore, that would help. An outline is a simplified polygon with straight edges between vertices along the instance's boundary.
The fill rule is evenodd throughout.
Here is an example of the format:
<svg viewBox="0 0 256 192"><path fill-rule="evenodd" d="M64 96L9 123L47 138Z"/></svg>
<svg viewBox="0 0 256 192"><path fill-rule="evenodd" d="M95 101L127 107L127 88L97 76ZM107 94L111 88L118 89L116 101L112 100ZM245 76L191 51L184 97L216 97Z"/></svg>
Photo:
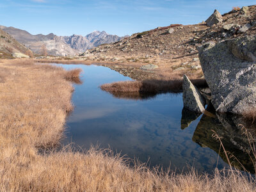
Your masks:
<svg viewBox="0 0 256 192"><path fill-rule="evenodd" d="M39 153L63 137L73 108L70 80L78 74L29 60L0 63L0 191L255 191L255 180L236 172L209 177L129 168L95 148Z"/></svg>

